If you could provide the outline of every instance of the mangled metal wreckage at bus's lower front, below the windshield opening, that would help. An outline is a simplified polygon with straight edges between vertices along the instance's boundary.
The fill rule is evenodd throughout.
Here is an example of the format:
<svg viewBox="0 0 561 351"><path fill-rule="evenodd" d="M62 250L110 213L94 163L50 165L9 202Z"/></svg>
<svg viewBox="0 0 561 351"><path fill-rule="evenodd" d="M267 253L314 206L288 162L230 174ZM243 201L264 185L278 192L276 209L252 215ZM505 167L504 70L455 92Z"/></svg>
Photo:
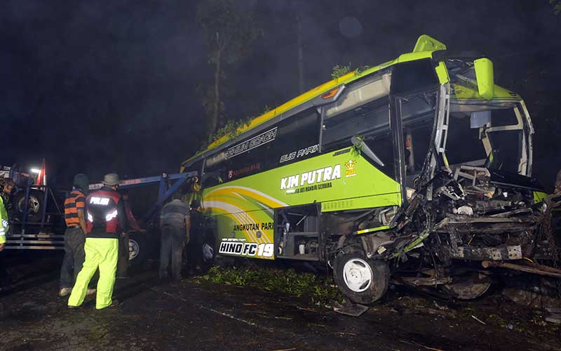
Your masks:
<svg viewBox="0 0 561 351"><path fill-rule="evenodd" d="M561 278L560 269L534 262L557 264L559 249L548 225L561 197L535 201L538 189L508 177L461 165L436 171L424 185L419 180L408 203L391 212L391 230L360 237L366 256L393 259L402 284L440 286L460 299L485 293L489 273L501 272L493 268ZM381 211L369 215L379 218Z"/></svg>

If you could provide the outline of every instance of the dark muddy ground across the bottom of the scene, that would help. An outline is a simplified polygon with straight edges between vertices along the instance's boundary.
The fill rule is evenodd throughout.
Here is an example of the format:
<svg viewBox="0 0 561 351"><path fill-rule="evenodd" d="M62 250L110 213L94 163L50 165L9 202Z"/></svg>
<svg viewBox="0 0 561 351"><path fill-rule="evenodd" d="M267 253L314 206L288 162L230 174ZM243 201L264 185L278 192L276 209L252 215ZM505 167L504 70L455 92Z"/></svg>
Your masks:
<svg viewBox="0 0 561 351"><path fill-rule="evenodd" d="M559 326L499 294L457 303L394 289L349 317L287 294L162 283L146 269L117 281L118 307L68 310L57 296L61 260L42 253L11 267L0 350L561 350Z"/></svg>

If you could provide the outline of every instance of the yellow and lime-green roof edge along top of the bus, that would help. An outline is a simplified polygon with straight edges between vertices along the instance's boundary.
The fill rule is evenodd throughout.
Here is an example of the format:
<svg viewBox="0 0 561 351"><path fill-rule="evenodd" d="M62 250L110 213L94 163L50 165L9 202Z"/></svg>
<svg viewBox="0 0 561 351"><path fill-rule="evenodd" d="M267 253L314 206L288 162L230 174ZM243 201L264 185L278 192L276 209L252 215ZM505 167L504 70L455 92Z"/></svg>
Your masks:
<svg viewBox="0 0 561 351"><path fill-rule="evenodd" d="M296 98L293 98L288 102L285 102L283 105L280 105L270 110L269 112L266 112L258 117L255 117L249 122L249 124L245 124L243 127L238 128L238 134L236 135L235 138L231 138L231 136L229 135L224 135L221 138L215 140L210 145L208 145L208 147L205 150L198 152L193 157L184 161L182 163L182 169L184 168L184 166L191 164L201 156L214 154L215 152L221 150L222 147L220 146L221 145L226 146L225 144L227 144L227 142L229 142L230 140L236 140L238 138L245 137L249 131L252 131L252 129L256 128L257 126L264 124L266 121L271 121L276 117L279 117L281 114L288 112L292 109L295 109L295 107L304 104L304 102L308 102L309 100L313 100L318 96L330 92L334 88L337 88L337 86L341 86L342 84L348 84L352 81L356 81L357 79L365 77L374 72L378 72L381 69L396 65L398 63L432 58L433 52L440 51L440 50L446 50L446 45L442 44L440 41L436 39L429 37L426 34L423 34L419 37L419 39L417 39L417 44L415 44L415 47L413 48L413 51L411 53L403 53L395 60L381 63L380 65L365 69L362 72L358 72L356 70L353 72L349 72L348 74L345 74L342 77L333 79L331 81L327 81L327 83L321 84L320 86L316 86L316 88L313 88L310 91L306 91L306 93L303 93L302 95L299 95Z"/></svg>

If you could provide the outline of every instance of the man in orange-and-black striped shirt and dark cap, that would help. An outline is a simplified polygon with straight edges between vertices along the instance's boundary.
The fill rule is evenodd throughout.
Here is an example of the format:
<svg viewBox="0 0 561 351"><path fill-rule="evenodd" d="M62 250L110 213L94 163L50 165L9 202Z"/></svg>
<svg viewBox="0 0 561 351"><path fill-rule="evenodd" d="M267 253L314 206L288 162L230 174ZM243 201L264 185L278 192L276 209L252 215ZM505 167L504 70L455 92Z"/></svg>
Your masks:
<svg viewBox="0 0 561 351"><path fill-rule="evenodd" d="M83 173L74 176L72 191L65 199L65 258L60 267L59 296L67 296L72 291L76 276L82 269L86 254L83 245L86 243L86 194L90 181ZM95 289L88 289L87 294L95 293Z"/></svg>

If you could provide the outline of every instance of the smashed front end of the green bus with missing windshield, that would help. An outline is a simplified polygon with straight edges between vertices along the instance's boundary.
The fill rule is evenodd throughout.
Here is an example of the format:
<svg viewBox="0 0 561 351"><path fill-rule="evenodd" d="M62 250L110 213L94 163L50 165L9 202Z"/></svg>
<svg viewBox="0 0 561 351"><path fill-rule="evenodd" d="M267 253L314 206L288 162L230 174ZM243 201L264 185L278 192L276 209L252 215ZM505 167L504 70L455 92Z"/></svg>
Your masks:
<svg viewBox="0 0 561 351"><path fill-rule="evenodd" d="M489 276L478 273L496 266L488 261L541 255L536 227L543 206L536 203L545 194L530 178L534 129L522 98L496 85L482 96L473 61L447 59L445 65L450 80L440 86L424 126L407 119L421 116L422 104L414 101L430 91L398 102L401 110L410 107L402 116L407 201L393 218L396 230L378 235L388 244L379 245L376 235L363 237L363 244L371 258L395 258L400 267L393 273L404 272L403 282L475 298L489 287ZM414 278L407 277L412 267L421 267Z"/></svg>

